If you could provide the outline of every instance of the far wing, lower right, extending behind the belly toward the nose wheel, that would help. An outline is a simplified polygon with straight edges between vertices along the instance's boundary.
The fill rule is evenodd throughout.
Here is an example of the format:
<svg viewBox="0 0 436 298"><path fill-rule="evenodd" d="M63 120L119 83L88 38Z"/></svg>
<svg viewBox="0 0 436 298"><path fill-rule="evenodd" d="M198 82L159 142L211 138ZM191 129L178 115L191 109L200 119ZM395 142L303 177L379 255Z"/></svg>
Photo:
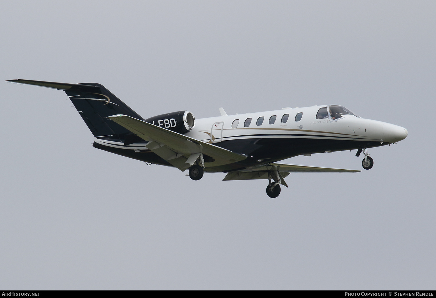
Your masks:
<svg viewBox="0 0 436 298"><path fill-rule="evenodd" d="M288 176L292 172L330 172L330 173L357 173L361 172L359 170L350 169L335 169L335 168L323 168L318 166L301 166L301 165L291 165L287 163L271 163L271 165L259 166L254 168L249 168L245 170L229 172L223 179L226 180L249 180L249 179L268 179L268 171L270 171L273 166L277 167L277 170L282 175L283 178Z"/></svg>

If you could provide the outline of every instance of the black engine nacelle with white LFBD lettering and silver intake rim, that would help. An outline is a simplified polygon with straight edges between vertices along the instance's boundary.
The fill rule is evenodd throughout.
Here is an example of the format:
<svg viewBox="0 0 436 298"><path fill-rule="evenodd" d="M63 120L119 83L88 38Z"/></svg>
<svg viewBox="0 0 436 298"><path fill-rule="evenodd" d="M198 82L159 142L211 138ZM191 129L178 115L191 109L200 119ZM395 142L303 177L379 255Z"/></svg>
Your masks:
<svg viewBox="0 0 436 298"><path fill-rule="evenodd" d="M195 126L195 117L188 111L157 115L145 121L181 134L191 131Z"/></svg>

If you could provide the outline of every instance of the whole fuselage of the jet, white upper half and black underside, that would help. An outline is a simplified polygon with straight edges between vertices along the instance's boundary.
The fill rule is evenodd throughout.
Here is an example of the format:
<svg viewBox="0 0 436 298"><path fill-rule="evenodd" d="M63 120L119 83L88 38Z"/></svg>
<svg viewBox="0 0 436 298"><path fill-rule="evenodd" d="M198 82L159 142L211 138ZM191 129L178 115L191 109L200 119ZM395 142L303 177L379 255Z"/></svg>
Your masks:
<svg viewBox="0 0 436 298"><path fill-rule="evenodd" d="M335 108L343 113L335 112ZM165 128L165 121L155 125ZM247 156L240 163L223 166L212 166L205 160L205 171L225 172L298 155L384 146L405 139L407 130L360 118L338 105L317 105L196 119L194 127L184 135ZM126 145L123 140L99 137L95 144L110 152L123 149L116 153L131 158L166 164L153 154L136 154L150 152L145 141Z"/></svg>

